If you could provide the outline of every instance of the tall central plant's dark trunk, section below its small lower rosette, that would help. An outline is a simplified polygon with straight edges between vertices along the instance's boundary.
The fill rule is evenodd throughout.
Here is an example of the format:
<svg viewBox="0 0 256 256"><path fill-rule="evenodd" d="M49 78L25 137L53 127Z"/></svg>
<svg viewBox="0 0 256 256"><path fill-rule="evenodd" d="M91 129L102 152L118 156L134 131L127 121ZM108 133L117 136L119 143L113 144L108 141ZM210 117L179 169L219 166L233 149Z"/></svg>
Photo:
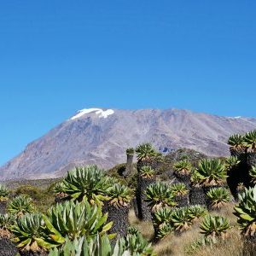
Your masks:
<svg viewBox="0 0 256 256"><path fill-rule="evenodd" d="M138 209L138 218L142 220L151 220L151 209L148 206L148 202L146 202L145 191L148 186L154 183L155 180L153 178L143 178L138 175L138 183L137 183L137 209Z"/></svg>

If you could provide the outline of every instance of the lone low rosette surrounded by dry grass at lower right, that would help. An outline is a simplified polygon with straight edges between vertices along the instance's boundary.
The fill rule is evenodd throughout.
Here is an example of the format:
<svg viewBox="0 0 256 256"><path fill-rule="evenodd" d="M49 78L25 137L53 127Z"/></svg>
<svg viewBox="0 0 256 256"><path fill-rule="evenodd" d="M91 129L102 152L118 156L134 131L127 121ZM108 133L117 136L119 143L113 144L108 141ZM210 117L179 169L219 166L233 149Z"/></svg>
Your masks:
<svg viewBox="0 0 256 256"><path fill-rule="evenodd" d="M230 229L227 218L221 216L207 215L201 223L201 233L216 240L218 237L225 238L226 232Z"/></svg>

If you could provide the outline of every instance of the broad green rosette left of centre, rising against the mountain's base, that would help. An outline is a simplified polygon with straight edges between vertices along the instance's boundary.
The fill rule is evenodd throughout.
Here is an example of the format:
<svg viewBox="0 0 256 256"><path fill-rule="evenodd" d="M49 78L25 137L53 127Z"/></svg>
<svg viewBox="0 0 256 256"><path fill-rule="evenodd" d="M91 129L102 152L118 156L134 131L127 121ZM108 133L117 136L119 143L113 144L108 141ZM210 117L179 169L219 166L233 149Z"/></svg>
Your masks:
<svg viewBox="0 0 256 256"><path fill-rule="evenodd" d="M97 166L84 166L67 172L63 186L65 193L73 200L101 204L106 200L105 193L111 184L102 169Z"/></svg>

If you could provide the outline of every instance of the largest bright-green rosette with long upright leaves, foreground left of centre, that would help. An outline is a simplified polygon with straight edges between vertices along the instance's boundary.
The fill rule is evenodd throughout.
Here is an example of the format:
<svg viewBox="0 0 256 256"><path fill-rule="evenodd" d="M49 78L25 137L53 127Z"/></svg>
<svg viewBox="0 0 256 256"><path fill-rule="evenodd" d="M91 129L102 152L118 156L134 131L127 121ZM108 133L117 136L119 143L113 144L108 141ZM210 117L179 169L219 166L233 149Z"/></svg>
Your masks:
<svg viewBox="0 0 256 256"><path fill-rule="evenodd" d="M44 222L51 240L63 243L65 237L74 240L79 236L104 235L112 227L112 223L107 224L107 218L108 214L103 215L101 207L91 206L88 201L66 201L50 207Z"/></svg>

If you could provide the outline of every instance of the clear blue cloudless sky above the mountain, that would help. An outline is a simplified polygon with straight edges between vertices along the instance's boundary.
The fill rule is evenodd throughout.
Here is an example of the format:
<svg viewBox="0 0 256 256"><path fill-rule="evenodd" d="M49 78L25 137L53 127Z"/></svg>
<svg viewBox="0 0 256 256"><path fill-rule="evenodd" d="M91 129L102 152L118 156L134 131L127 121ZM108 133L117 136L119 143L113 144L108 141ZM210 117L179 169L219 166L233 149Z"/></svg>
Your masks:
<svg viewBox="0 0 256 256"><path fill-rule="evenodd" d="M80 108L256 117L255 1L2 1L0 165Z"/></svg>

